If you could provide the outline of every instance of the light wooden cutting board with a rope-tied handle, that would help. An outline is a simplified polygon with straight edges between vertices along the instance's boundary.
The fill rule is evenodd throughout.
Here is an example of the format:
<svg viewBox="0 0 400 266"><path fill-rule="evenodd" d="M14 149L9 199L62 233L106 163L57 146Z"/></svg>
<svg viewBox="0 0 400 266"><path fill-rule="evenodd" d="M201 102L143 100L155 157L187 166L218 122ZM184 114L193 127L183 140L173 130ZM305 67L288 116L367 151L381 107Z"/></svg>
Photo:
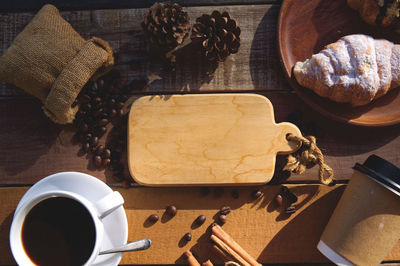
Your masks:
<svg viewBox="0 0 400 266"><path fill-rule="evenodd" d="M256 94L162 95L138 98L128 120L128 164L148 186L263 184L276 154L298 148L275 123L271 102Z"/></svg>

